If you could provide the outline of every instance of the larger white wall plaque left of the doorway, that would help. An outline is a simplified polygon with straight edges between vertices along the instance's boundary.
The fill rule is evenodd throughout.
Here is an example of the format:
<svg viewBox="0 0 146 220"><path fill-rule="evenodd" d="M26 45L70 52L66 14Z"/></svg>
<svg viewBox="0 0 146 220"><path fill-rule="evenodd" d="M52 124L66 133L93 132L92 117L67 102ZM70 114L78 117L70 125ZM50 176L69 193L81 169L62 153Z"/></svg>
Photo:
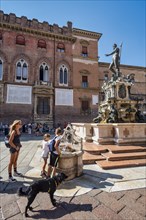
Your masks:
<svg viewBox="0 0 146 220"><path fill-rule="evenodd" d="M32 87L7 85L7 103L31 104Z"/></svg>

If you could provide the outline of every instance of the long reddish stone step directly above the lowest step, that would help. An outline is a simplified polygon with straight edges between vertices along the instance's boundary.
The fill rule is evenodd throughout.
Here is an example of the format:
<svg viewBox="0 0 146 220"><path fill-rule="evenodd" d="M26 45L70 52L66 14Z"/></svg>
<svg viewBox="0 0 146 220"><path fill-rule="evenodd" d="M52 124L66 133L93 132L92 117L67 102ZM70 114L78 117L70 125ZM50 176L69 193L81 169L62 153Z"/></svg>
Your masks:
<svg viewBox="0 0 146 220"><path fill-rule="evenodd" d="M102 156L105 157L108 161L113 160L131 160L131 159L144 159L146 158L146 152L132 152L132 153L102 153Z"/></svg>

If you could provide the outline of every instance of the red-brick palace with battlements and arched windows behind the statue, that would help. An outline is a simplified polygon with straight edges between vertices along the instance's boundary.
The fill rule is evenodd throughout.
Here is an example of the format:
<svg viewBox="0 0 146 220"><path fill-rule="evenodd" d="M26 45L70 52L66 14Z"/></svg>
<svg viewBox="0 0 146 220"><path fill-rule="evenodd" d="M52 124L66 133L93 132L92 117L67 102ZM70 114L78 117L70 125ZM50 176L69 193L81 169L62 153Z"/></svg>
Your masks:
<svg viewBox="0 0 146 220"><path fill-rule="evenodd" d="M0 11L0 122L91 122L108 72L98 62L101 36ZM145 68L122 69L136 73L146 100Z"/></svg>

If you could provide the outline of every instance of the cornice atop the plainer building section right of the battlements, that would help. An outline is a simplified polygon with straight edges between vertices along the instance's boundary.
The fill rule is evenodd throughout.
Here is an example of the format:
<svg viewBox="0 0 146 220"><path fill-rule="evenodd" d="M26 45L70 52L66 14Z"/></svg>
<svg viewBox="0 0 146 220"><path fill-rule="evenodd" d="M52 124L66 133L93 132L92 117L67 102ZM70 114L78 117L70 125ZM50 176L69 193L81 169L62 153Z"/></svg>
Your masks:
<svg viewBox="0 0 146 220"><path fill-rule="evenodd" d="M93 31L87 31L87 30L82 30L82 29L78 29L78 28L73 28L72 29L72 33L74 35L86 36L86 37L95 38L95 39L98 39L98 40L102 36L101 33L93 32Z"/></svg>

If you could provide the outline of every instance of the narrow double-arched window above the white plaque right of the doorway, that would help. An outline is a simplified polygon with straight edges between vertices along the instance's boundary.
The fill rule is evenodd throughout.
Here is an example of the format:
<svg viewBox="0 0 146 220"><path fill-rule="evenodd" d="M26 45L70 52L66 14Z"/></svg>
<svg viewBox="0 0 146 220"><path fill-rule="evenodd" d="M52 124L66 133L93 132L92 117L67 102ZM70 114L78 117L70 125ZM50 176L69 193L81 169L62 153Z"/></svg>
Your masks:
<svg viewBox="0 0 146 220"><path fill-rule="evenodd" d="M68 69L65 65L61 65L59 68L59 84L62 86L68 85Z"/></svg>

